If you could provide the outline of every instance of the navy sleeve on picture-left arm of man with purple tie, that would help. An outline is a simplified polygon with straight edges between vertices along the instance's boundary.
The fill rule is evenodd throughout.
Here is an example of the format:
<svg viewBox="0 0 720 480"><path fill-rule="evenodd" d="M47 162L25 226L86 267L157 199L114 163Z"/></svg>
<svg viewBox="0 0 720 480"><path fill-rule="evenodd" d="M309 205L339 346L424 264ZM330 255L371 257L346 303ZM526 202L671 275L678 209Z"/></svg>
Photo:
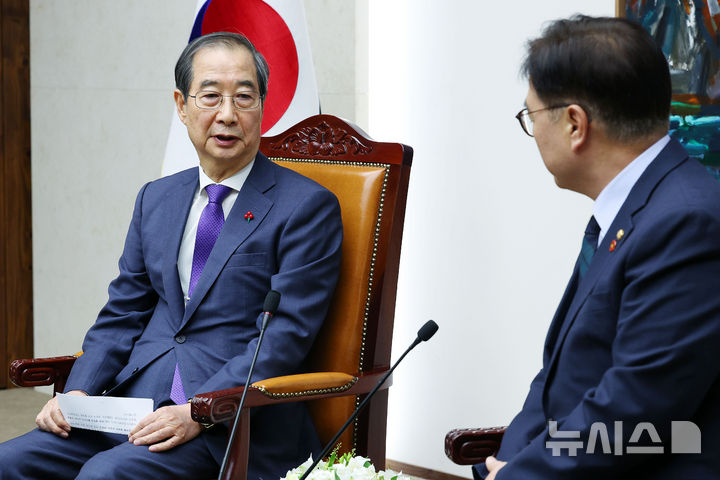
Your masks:
<svg viewBox="0 0 720 480"><path fill-rule="evenodd" d="M140 224L147 184L135 201L125 247L118 262L119 275L110 283L108 301L83 341L83 354L75 361L65 391L83 390L99 395L125 366L135 341L142 334L157 304L142 252Z"/></svg>

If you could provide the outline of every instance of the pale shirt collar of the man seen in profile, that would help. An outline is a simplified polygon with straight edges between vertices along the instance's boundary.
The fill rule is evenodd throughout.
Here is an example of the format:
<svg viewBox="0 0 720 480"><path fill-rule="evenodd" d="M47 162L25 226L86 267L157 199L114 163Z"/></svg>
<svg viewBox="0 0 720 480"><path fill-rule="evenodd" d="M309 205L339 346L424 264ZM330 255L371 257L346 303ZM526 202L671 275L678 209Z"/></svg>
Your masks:
<svg viewBox="0 0 720 480"><path fill-rule="evenodd" d="M643 174L645 169L652 163L655 157L670 141L670 137L665 135L641 153L635 160L630 162L625 168L603 188L600 195L595 199L593 205L593 216L600 225L600 236L598 237L598 245L602 242L605 233L612 225L613 220L620 211L623 203L630 194L630 190Z"/></svg>

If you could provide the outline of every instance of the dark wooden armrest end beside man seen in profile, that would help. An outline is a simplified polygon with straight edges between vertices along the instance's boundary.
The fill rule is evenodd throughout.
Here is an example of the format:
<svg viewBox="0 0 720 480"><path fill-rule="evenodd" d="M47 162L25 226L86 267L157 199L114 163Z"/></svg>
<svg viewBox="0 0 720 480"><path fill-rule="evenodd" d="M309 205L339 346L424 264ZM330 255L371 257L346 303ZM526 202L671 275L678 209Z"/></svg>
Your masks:
<svg viewBox="0 0 720 480"><path fill-rule="evenodd" d="M482 463L500 449L505 427L465 428L445 435L445 455L458 465Z"/></svg>

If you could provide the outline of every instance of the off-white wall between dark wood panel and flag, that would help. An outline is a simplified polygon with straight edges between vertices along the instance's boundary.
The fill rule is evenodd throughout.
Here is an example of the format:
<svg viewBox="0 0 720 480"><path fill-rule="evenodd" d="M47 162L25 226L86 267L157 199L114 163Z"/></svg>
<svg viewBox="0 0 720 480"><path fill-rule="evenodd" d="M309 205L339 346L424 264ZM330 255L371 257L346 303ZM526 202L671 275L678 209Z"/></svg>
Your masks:
<svg viewBox="0 0 720 480"><path fill-rule="evenodd" d="M195 0L30 2L35 354L80 349L156 178Z"/></svg>

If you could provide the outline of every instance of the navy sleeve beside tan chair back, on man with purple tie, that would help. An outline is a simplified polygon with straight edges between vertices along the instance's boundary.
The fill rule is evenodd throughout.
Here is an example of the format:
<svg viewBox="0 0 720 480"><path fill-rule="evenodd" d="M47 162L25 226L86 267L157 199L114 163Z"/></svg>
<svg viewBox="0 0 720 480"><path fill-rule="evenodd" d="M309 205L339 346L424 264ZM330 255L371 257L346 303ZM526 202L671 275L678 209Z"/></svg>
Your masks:
<svg viewBox="0 0 720 480"><path fill-rule="evenodd" d="M317 190L293 209L280 235L277 273L271 288L281 293L280 306L268 323L253 379L298 371L320 329L340 273L342 219L335 196ZM258 331L261 318L257 319ZM196 393L237 385L247 379L258 338L232 358Z"/></svg>

